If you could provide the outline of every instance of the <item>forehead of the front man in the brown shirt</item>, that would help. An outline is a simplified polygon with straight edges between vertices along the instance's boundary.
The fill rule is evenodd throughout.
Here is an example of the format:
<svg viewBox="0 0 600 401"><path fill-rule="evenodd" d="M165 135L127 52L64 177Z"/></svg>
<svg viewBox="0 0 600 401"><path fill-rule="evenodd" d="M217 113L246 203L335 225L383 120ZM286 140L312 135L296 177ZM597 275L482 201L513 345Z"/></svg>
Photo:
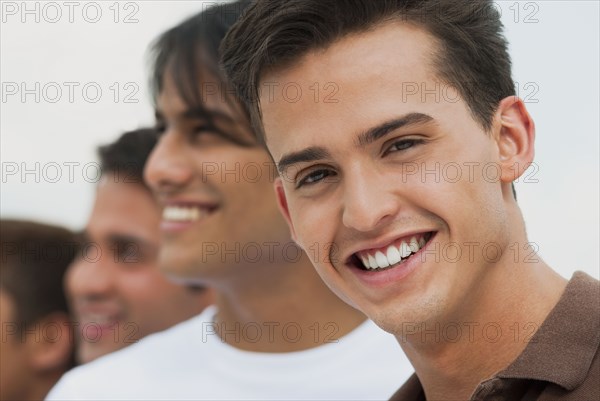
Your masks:
<svg viewBox="0 0 600 401"><path fill-rule="evenodd" d="M293 66L269 72L261 81L260 106L273 156L277 159L278 151L271 145L281 142L275 136L285 136L286 148L295 147L293 143L300 140L295 136L301 136L303 143L319 139L340 125L331 116L360 117L365 126L355 128L364 130L391 118L396 108L402 113L403 89L422 83L431 86L436 80L431 67L433 43L420 28L388 23L348 35L325 50L308 53ZM384 98L388 101L382 104ZM315 129L318 132L309 132Z"/></svg>

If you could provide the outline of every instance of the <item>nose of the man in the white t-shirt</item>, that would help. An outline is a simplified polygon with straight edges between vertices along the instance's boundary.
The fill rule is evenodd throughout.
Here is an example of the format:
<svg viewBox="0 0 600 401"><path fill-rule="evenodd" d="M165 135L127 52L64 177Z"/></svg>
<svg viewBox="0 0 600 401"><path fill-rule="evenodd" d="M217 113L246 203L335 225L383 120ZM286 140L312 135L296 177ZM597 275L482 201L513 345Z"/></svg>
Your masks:
<svg viewBox="0 0 600 401"><path fill-rule="evenodd" d="M185 157L186 144L182 141L180 135L168 130L160 137L148 157L144 178L153 191L176 190L185 186L192 178L193 170Z"/></svg>

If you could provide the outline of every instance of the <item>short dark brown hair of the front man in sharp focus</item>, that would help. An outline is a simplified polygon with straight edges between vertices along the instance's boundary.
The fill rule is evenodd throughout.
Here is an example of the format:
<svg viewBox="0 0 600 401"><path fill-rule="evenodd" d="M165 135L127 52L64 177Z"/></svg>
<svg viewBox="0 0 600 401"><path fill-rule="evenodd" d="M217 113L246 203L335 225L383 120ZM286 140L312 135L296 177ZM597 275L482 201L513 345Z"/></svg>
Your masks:
<svg viewBox="0 0 600 401"><path fill-rule="evenodd" d="M489 131L500 100L515 93L503 25L491 0L257 0L228 32L221 55L260 139L265 72L390 21L420 26L436 38L435 71Z"/></svg>

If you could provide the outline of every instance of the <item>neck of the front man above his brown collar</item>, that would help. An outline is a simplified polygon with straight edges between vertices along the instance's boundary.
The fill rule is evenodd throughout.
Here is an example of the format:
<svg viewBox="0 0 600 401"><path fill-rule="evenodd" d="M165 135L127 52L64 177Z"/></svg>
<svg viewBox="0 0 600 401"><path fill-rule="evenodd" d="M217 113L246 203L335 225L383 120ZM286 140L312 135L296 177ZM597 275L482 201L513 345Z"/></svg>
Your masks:
<svg viewBox="0 0 600 401"><path fill-rule="evenodd" d="M427 399L470 399L483 380L523 352L558 302L565 279L539 259L515 264L513 255L506 256L486 270L459 313L402 338Z"/></svg>

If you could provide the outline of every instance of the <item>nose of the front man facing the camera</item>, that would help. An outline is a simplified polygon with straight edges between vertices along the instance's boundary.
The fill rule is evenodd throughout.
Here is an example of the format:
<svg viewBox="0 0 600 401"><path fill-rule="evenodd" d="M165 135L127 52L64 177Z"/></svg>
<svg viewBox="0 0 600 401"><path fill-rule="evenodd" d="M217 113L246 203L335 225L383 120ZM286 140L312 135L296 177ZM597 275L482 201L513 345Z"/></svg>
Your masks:
<svg viewBox="0 0 600 401"><path fill-rule="evenodd" d="M346 227L369 232L394 218L399 199L381 172L357 165L345 181L342 222Z"/></svg>

